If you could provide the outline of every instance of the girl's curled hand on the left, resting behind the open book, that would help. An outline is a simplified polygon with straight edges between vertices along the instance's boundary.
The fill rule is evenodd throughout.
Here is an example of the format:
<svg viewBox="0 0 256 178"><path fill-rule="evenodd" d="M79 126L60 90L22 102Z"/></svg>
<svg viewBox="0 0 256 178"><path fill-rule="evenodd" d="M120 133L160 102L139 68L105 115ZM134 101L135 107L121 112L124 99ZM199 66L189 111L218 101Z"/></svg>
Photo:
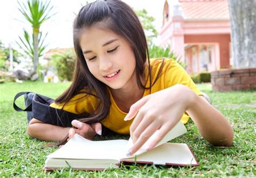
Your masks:
<svg viewBox="0 0 256 178"><path fill-rule="evenodd" d="M72 120L71 124L76 128L69 129L69 139L71 139L75 133L88 140L92 140L96 134L102 135L102 124L100 124L100 122L85 124L84 122L80 122L78 120Z"/></svg>

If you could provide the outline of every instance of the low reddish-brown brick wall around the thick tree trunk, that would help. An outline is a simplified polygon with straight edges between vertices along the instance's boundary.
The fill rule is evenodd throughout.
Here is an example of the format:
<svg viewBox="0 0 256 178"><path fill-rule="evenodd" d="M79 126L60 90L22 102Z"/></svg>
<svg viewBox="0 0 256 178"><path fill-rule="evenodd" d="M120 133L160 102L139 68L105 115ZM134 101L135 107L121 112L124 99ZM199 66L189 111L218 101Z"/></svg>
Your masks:
<svg viewBox="0 0 256 178"><path fill-rule="evenodd" d="M214 92L256 90L256 68L213 71L211 83Z"/></svg>

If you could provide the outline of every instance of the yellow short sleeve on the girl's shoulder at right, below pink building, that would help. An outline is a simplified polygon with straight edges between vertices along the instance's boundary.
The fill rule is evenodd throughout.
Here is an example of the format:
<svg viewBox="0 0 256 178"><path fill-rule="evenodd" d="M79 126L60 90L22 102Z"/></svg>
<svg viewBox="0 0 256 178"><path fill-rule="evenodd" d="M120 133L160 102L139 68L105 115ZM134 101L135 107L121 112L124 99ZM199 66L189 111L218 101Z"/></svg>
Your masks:
<svg viewBox="0 0 256 178"><path fill-rule="evenodd" d="M198 90L196 84L194 84L188 73L180 66L177 61L173 59L165 59L165 69L164 69L164 83L165 88L171 87L176 84L182 84L189 87L194 93L198 95L203 95L203 93Z"/></svg>

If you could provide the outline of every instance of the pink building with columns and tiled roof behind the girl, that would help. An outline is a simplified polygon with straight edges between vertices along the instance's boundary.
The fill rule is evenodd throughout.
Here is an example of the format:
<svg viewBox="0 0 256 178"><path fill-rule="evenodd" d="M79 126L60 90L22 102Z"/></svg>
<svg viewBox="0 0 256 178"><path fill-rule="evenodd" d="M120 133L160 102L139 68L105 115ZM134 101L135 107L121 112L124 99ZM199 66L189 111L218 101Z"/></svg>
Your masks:
<svg viewBox="0 0 256 178"><path fill-rule="evenodd" d="M232 66L227 0L165 1L160 45L170 46L188 73Z"/></svg>

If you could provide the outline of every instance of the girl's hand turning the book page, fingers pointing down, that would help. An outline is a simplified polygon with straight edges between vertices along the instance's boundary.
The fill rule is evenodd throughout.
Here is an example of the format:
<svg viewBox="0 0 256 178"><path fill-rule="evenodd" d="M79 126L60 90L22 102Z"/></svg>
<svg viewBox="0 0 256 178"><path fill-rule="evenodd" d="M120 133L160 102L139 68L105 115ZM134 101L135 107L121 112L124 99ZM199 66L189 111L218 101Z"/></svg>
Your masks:
<svg viewBox="0 0 256 178"><path fill-rule="evenodd" d="M127 156L136 153L159 130L151 143L145 146L147 150L154 148L181 119L193 95L195 93L190 88L178 84L147 95L134 103L124 119L131 120L135 117L130 127L134 145Z"/></svg>

